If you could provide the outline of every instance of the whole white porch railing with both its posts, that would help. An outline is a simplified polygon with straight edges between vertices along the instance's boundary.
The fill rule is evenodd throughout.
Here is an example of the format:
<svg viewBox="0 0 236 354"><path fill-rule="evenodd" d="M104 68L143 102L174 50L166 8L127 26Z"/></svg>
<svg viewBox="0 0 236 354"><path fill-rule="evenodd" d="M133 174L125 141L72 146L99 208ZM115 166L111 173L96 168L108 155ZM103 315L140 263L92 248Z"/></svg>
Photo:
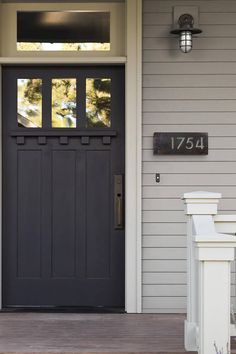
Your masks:
<svg viewBox="0 0 236 354"><path fill-rule="evenodd" d="M187 320L185 349L228 354L231 261L236 247L236 216L217 215L221 194L184 194L187 226Z"/></svg>

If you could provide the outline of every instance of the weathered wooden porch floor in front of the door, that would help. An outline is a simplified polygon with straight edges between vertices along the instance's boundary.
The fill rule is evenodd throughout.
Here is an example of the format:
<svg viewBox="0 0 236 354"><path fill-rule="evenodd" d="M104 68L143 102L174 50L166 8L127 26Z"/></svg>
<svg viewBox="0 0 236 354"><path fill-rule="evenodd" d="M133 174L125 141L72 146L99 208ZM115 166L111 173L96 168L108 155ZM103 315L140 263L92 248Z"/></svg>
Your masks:
<svg viewBox="0 0 236 354"><path fill-rule="evenodd" d="M184 319L179 314L0 313L0 353L186 353Z"/></svg>

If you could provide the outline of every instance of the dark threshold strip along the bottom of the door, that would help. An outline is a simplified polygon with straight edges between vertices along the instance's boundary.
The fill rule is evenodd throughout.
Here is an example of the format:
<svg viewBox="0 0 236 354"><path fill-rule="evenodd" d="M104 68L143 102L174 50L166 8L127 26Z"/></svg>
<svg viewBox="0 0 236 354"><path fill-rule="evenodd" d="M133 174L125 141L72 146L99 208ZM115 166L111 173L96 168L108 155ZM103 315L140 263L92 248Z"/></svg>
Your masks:
<svg viewBox="0 0 236 354"><path fill-rule="evenodd" d="M122 314L126 313L121 307L93 307L93 306L8 306L0 310L0 312L37 312L37 313L91 313L91 314Z"/></svg>

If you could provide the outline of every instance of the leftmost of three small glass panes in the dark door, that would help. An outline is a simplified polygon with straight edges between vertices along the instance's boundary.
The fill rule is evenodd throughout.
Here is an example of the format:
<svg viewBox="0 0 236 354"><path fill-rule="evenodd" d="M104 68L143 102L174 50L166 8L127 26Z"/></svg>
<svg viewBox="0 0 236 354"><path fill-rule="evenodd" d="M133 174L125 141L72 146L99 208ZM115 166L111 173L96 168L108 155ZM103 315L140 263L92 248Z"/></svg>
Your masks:
<svg viewBox="0 0 236 354"><path fill-rule="evenodd" d="M42 128L42 80L17 79L19 127Z"/></svg>

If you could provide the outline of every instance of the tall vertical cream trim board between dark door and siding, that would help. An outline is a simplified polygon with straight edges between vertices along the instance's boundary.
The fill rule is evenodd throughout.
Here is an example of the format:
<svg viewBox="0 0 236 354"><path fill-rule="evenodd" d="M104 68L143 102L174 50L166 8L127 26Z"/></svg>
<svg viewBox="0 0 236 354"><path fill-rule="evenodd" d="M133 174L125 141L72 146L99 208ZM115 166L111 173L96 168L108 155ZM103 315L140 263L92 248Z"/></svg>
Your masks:
<svg viewBox="0 0 236 354"><path fill-rule="evenodd" d="M142 1L127 0L126 63L126 310L142 310Z"/></svg>

